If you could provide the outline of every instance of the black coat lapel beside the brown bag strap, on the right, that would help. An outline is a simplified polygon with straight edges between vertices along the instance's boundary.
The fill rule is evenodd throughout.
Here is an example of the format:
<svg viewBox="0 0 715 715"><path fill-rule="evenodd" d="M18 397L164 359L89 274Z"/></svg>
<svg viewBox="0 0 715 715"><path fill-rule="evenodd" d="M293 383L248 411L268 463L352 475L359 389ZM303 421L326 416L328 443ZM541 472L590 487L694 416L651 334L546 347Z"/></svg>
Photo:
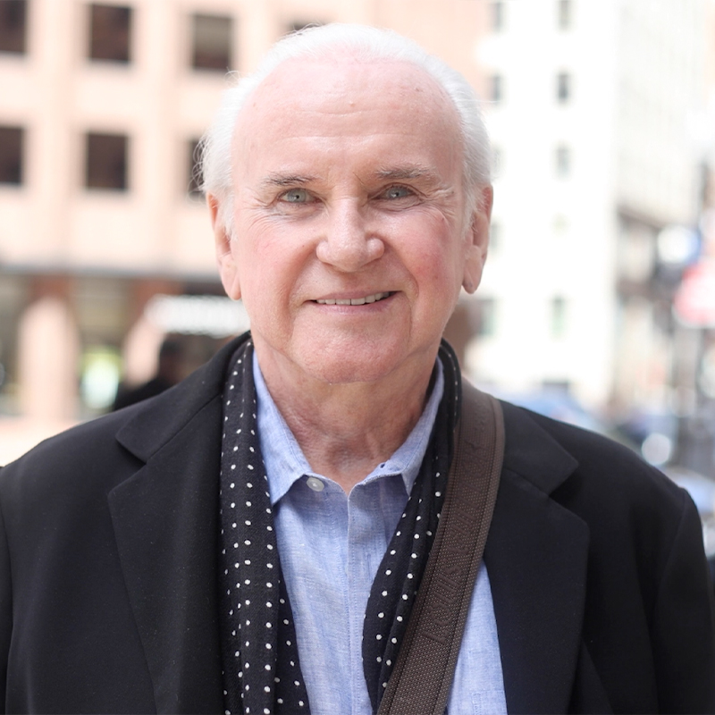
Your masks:
<svg viewBox="0 0 715 715"><path fill-rule="evenodd" d="M584 615L588 526L551 498L576 460L503 405L504 467L484 561L509 713L567 712Z"/></svg>

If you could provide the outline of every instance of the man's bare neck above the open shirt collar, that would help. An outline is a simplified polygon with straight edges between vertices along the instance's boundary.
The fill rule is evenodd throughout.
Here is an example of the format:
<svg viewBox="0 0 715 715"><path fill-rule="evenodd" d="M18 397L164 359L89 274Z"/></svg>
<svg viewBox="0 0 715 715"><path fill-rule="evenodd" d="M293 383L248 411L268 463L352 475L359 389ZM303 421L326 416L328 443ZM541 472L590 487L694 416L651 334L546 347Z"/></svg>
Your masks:
<svg viewBox="0 0 715 715"><path fill-rule="evenodd" d="M425 408L434 364L433 358L428 366L374 383L332 384L296 379L257 355L268 391L311 469L347 493L408 438Z"/></svg>

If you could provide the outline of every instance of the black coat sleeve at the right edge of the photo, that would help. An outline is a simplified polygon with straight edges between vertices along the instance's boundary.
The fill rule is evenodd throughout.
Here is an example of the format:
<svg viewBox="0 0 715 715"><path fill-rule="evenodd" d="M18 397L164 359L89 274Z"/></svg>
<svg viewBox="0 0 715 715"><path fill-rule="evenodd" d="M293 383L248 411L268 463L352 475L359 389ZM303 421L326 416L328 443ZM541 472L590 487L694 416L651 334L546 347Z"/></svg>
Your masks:
<svg viewBox="0 0 715 715"><path fill-rule="evenodd" d="M693 501L684 495L652 621L660 712L715 713L715 603Z"/></svg>

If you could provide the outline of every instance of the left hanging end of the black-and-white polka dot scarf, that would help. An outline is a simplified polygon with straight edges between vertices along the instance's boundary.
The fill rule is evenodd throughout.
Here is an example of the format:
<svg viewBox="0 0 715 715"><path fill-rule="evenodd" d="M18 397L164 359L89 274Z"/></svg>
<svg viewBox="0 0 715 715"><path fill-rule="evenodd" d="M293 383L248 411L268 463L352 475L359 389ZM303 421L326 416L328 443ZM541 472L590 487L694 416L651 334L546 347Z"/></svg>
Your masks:
<svg viewBox="0 0 715 715"><path fill-rule="evenodd" d="M224 712L309 712L281 576L247 341L223 398L220 614Z"/></svg>

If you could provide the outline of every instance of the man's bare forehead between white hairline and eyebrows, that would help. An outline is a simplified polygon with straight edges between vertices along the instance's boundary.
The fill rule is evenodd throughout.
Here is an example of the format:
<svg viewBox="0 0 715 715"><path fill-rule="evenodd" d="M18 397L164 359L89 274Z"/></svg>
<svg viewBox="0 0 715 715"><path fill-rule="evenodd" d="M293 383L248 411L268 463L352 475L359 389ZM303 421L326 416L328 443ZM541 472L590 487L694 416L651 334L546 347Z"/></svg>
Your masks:
<svg viewBox="0 0 715 715"><path fill-rule="evenodd" d="M374 137L422 150L461 152L457 111L436 80L413 63L349 55L297 58L279 65L248 98L235 140L238 156L341 138ZM294 145L297 146L297 145Z"/></svg>

